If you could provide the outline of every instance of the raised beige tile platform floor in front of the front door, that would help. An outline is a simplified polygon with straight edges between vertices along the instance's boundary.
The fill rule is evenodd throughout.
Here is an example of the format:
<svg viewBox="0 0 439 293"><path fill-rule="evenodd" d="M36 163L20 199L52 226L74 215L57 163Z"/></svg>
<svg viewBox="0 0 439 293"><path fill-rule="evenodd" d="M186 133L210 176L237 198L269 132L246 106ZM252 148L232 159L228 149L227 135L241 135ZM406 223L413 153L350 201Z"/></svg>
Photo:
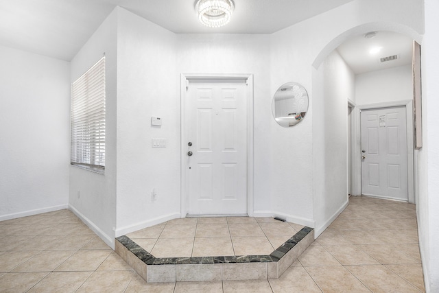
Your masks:
<svg viewBox="0 0 439 293"><path fill-rule="evenodd" d="M127 236L154 257L270 255L301 228L274 218L185 218Z"/></svg>

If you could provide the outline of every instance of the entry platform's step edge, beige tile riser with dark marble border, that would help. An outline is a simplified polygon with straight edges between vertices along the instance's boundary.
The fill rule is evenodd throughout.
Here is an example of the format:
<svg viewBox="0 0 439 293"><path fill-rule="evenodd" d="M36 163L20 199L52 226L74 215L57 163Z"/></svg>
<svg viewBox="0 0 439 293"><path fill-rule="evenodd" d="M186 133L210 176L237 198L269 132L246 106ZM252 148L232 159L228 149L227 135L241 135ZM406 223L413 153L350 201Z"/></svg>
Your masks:
<svg viewBox="0 0 439 293"><path fill-rule="evenodd" d="M311 233L312 232L312 233ZM307 237L309 236L309 237ZM302 244L302 240L307 237L307 241ZM270 255L239 255L239 256L222 256L222 257L165 257L158 258L148 253L145 249L139 246L136 242L132 241L130 237L123 235L117 237L115 242L115 250L136 272L138 272L143 279L147 282L160 282L160 281L217 281L216 277L196 277L195 279L182 279L177 276L178 272L175 272L176 265L186 265L194 268L198 265L202 268L219 270L219 278L221 274L224 275L225 268L230 269L229 263L252 263L253 266L260 265L257 263L265 263L265 276L267 279L278 279L278 277L285 272L285 270L293 263L297 257L305 251L305 249L313 242L313 228L304 227L294 236L289 238L281 246L276 248ZM302 244L302 245L298 245ZM250 266L252 266L250 265ZM222 266L218 268L217 266ZM245 265L248 266L248 265ZM178 269L177 269L178 271ZM147 273L149 272L149 273ZM168 274L168 277L157 277L157 274ZM187 274L187 272L186 272ZM215 272L213 272L215 274ZM264 272L263 272L264 274ZM258 276L260 277L261 274ZM229 276L230 277L230 276ZM258 277L258 278L259 278ZM197 279L198 278L198 279ZM216 278L216 279L215 279ZM246 277L237 277L244 278ZM248 279L254 279L254 277L248 277Z"/></svg>

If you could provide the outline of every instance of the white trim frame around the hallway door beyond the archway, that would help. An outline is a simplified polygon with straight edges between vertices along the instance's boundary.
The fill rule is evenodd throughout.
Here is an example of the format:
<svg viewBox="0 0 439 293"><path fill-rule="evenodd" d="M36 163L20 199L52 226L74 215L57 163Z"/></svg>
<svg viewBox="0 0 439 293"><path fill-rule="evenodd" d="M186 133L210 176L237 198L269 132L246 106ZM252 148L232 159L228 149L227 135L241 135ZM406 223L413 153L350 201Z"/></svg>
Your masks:
<svg viewBox="0 0 439 293"><path fill-rule="evenodd" d="M407 131L407 193L408 193L408 202L416 203L414 198L414 132L413 132L413 101L411 99L404 99L401 101L395 102L384 102L384 103L375 103L375 104L367 104L367 105L359 105L356 108L358 109L355 112L355 120L357 121L358 128L356 128L357 133L355 137L357 137L357 141L359 141L359 148L361 149L361 121L360 121L360 113L361 110L372 110L379 108L390 108L390 107L405 107L405 115L406 115L406 131ZM358 153L361 150L358 149ZM356 163L353 165L357 169L354 172L357 172L359 176L359 186L357 189L359 190L359 195L362 194L362 182L361 182L361 159L360 156L357 156L355 159Z"/></svg>

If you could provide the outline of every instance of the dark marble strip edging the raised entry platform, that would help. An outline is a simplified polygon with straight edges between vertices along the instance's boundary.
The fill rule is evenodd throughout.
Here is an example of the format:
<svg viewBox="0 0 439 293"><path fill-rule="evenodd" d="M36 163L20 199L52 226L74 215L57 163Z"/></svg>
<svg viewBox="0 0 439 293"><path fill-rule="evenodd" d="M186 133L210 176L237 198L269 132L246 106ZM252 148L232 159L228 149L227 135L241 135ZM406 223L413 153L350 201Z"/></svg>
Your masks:
<svg viewBox="0 0 439 293"><path fill-rule="evenodd" d="M230 255L221 257L154 257L145 249L141 248L136 242L132 241L126 235L117 237L123 246L132 254L139 257L147 265L165 265L165 264L198 264L198 263L255 263L255 262L273 262L279 261L289 250L292 250L296 244L307 236L313 228L304 227L291 238L276 248L270 255Z"/></svg>

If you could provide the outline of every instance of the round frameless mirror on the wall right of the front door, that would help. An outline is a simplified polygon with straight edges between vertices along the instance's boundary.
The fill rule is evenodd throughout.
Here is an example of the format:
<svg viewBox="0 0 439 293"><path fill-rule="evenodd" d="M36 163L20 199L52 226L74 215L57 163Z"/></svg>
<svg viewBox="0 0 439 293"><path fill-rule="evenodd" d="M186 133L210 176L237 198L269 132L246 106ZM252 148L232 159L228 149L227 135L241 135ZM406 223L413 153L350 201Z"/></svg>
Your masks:
<svg viewBox="0 0 439 293"><path fill-rule="evenodd" d="M307 110L308 93L301 84L287 82L274 93L272 111L280 126L295 126L305 118Z"/></svg>

